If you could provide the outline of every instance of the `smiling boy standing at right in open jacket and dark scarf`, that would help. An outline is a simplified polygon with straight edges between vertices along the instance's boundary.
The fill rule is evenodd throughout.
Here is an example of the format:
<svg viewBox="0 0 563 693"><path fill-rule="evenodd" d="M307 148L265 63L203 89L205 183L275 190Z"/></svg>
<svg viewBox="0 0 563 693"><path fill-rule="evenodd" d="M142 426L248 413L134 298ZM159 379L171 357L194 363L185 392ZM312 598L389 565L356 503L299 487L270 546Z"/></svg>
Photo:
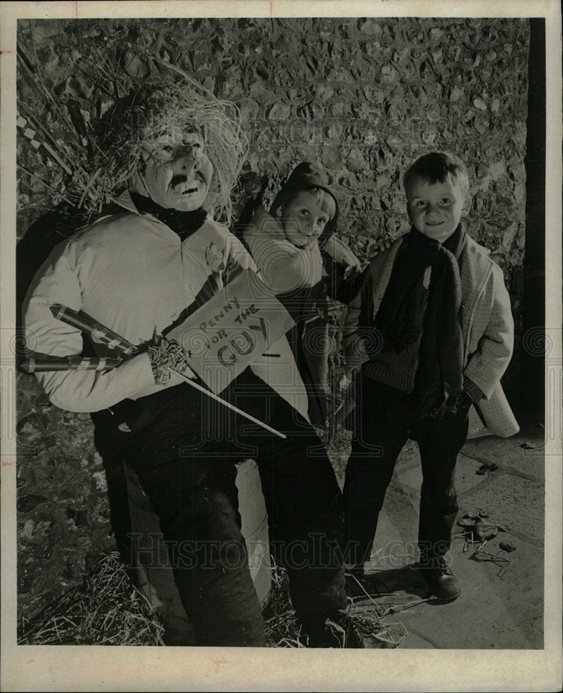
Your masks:
<svg viewBox="0 0 563 693"><path fill-rule="evenodd" d="M470 408L491 433L519 430L500 385L513 321L502 270L461 221L471 204L463 162L443 152L420 157L404 190L411 230L371 261L348 314L348 356L359 373L344 487L346 553L361 572L395 462L414 439L423 476L419 567L431 593L452 601L461 588L445 554Z"/></svg>

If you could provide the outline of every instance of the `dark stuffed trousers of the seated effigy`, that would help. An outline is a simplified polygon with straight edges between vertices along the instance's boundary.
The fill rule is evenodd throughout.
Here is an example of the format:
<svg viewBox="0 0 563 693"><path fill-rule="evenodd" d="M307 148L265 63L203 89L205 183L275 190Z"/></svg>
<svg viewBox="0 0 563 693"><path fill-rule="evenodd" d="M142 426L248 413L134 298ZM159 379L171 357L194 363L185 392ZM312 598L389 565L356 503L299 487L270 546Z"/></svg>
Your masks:
<svg viewBox="0 0 563 693"><path fill-rule="evenodd" d="M305 623L323 622L345 608L342 498L310 424L249 369L221 396L287 439L189 385L165 392L136 405L143 428L127 442L127 457L159 516L197 644L265 644L240 533L235 463L242 459L258 464L271 551L287 568L298 616ZM147 423L151 408L158 413Z"/></svg>

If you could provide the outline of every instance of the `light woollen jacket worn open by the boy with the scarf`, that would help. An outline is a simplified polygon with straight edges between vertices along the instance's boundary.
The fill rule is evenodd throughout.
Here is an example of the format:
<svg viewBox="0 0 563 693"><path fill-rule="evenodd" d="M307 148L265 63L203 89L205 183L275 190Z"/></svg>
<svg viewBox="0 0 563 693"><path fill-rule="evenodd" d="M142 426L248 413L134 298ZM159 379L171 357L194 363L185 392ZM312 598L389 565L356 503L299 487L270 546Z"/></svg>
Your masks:
<svg viewBox="0 0 563 693"><path fill-rule="evenodd" d="M366 281L353 299L346 319L348 365L361 366L368 360L366 335L361 328L373 327L373 318L383 299L397 251L402 238L373 258ZM460 262L461 328L463 331L463 374L483 392L484 397L470 412L470 437L493 433L501 437L519 431L510 405L501 387L501 376L512 357L514 321L510 297L504 286L499 265L489 257L489 251L467 236ZM365 314L362 306L371 304L370 324L359 324Z"/></svg>

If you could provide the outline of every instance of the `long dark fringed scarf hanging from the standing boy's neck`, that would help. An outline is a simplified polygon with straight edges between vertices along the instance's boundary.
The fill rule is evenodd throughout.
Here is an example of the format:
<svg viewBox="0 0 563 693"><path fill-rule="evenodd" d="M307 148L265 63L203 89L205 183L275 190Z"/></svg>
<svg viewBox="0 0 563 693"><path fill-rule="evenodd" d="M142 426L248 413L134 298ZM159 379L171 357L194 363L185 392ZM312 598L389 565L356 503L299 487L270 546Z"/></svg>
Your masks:
<svg viewBox="0 0 563 693"><path fill-rule="evenodd" d="M377 312L376 326L384 339L382 351L398 354L409 344L420 342L411 397L415 411L422 416L440 407L445 394L463 390L458 259L465 241L461 224L442 244L411 227ZM425 310L420 287L428 267L431 277Z"/></svg>

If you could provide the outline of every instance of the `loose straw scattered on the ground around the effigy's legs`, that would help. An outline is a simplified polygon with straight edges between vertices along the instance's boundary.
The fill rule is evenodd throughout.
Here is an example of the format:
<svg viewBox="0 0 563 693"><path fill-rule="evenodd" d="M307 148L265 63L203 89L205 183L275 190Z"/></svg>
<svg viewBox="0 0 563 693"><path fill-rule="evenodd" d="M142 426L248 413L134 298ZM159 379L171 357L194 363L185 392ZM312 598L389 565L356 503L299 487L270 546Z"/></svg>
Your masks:
<svg viewBox="0 0 563 693"><path fill-rule="evenodd" d="M307 647L307 635L289 601L289 579L272 559L272 586L263 608L267 647ZM424 600L421 600L421 602ZM421 602L413 602L421 603ZM403 608L408 605L403 605ZM386 616L401 606L349 599L345 615L375 647L399 647L407 635L402 622ZM345 633L341 624L328 626ZM33 620L19 627L18 644L162 645L164 628L148 600L129 581L118 552L103 556L82 586L66 593Z"/></svg>

